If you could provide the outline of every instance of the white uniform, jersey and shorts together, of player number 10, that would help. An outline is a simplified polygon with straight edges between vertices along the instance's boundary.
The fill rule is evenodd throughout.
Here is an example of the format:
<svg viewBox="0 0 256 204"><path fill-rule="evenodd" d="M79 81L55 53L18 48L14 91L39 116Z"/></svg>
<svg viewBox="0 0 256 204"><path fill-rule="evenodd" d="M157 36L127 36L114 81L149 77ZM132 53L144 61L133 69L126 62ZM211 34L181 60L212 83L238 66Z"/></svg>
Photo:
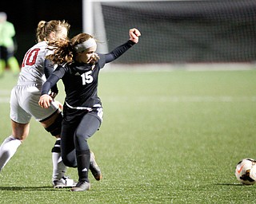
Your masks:
<svg viewBox="0 0 256 204"><path fill-rule="evenodd" d="M42 84L46 81L44 65L46 55L53 51L47 49L46 41L38 42L26 52L18 84L10 95L10 118L19 124L27 124L31 117L45 120L58 110L58 104L52 102L50 108L41 108L38 100Z"/></svg>

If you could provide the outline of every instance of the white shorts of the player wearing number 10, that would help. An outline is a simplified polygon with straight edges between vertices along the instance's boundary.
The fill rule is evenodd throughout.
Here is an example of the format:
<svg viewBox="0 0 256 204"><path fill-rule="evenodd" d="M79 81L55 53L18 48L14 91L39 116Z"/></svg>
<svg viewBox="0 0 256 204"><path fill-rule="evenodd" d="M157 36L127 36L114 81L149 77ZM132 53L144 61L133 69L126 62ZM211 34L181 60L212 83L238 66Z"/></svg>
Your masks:
<svg viewBox="0 0 256 204"><path fill-rule="evenodd" d="M28 124L33 116L35 120L44 120L58 110L58 105L51 103L49 108L38 105L41 90L36 84L17 85L10 94L10 119L19 124Z"/></svg>

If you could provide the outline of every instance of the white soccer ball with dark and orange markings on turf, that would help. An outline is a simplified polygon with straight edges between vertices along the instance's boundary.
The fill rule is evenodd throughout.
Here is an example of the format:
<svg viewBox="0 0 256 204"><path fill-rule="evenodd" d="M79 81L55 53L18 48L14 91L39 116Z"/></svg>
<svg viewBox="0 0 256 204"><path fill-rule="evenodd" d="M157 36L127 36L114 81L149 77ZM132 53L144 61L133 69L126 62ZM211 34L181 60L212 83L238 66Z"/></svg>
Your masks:
<svg viewBox="0 0 256 204"><path fill-rule="evenodd" d="M239 182L245 185L254 185L256 182L256 160L242 159L236 169L235 176Z"/></svg>

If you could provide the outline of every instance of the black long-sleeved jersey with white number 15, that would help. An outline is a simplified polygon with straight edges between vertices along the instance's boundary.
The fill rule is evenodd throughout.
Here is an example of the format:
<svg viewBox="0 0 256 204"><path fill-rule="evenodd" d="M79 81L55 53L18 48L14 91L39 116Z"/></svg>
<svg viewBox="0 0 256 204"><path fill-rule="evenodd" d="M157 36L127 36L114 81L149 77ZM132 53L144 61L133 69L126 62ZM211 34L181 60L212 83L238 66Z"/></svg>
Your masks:
<svg viewBox="0 0 256 204"><path fill-rule="evenodd" d="M98 54L99 60L95 65L75 62L71 65L58 66L43 85L42 94L48 93L50 88L62 79L66 92L66 105L70 108L92 108L98 104L102 105L98 97L98 73L106 63L120 57L132 45L134 45L133 41L127 41L111 53Z"/></svg>

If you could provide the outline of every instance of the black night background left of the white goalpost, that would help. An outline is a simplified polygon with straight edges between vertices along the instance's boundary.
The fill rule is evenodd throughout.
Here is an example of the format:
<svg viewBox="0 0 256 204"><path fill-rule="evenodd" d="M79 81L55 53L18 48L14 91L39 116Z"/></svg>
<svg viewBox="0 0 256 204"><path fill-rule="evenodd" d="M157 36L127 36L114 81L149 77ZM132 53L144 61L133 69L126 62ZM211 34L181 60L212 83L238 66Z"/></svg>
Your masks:
<svg viewBox="0 0 256 204"><path fill-rule="evenodd" d="M14 24L18 43L16 57L20 64L26 50L36 42L38 22L66 20L71 25L70 36L82 32L82 0L1 0L0 11L6 12L7 21Z"/></svg>

